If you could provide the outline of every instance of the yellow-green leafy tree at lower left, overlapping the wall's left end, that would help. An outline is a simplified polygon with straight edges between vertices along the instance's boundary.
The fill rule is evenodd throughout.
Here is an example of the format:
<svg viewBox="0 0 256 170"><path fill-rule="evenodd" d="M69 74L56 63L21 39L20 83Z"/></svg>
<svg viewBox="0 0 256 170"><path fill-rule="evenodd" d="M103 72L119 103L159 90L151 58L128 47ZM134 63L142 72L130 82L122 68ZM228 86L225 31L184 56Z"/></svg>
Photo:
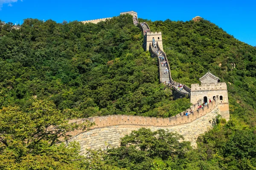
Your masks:
<svg viewBox="0 0 256 170"><path fill-rule="evenodd" d="M0 110L0 169L72 169L73 159L80 158L79 144L57 144L67 132L87 130L93 123L68 124L65 115L53 102L35 100L22 111L17 106ZM75 162L76 163L76 162Z"/></svg>

